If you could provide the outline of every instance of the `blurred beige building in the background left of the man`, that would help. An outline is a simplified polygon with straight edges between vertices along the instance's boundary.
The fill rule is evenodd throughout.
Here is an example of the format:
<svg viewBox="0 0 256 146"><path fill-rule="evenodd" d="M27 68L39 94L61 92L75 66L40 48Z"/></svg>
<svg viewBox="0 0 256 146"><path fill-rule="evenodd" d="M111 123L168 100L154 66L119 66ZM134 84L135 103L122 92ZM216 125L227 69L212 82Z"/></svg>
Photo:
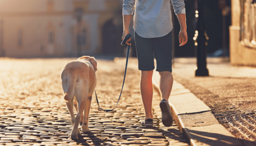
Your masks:
<svg viewBox="0 0 256 146"><path fill-rule="evenodd" d="M104 42L113 45L117 39L121 2L1 0L0 55L66 57L114 51L105 49Z"/></svg>

